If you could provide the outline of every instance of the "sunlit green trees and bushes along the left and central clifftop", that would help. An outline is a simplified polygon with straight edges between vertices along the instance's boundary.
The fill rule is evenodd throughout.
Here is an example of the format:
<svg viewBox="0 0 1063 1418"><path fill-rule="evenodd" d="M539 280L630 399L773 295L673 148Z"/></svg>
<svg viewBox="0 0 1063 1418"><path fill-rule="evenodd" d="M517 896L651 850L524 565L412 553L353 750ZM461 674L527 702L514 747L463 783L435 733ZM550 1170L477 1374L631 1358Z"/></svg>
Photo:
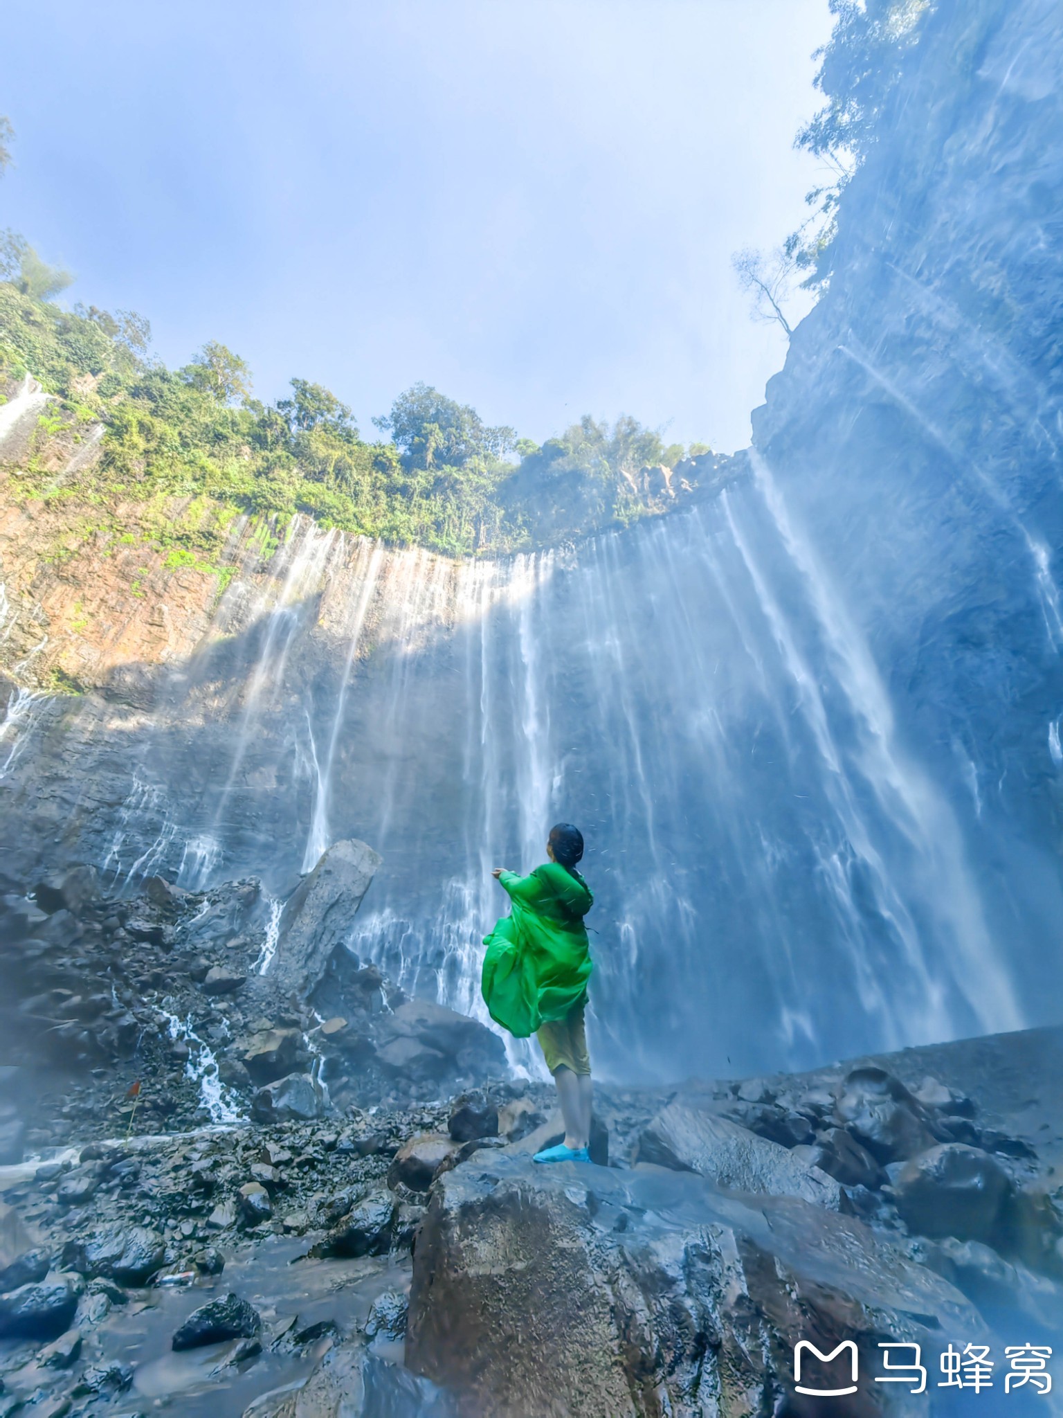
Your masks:
<svg viewBox="0 0 1063 1418"><path fill-rule="evenodd" d="M105 530L115 550L137 545L167 570L223 584L234 516L258 519L254 535L271 554L296 512L391 545L506 552L643 515L652 499L639 469L683 455L634 418L609 428L587 417L540 448L425 384L376 421L394 441L373 442L320 384L293 379L289 397L264 404L224 345L210 342L179 370L149 347L150 326L130 311L65 311L18 281L0 282L0 383L30 372L55 396L9 492L92 506L91 527L71 510L57 557L69 554L69 529ZM48 450L57 438L77 447L86 423L105 425L101 459L65 474ZM513 451L519 464L506 461ZM142 566L133 577L135 594L146 574Z"/></svg>

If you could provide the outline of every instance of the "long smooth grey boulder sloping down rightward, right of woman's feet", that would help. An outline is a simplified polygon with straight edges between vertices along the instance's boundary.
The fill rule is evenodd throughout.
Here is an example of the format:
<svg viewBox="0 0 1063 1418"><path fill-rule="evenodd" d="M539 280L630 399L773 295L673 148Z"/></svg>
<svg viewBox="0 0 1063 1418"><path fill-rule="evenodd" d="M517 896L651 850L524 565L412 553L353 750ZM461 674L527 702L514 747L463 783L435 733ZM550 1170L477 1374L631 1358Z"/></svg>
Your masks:
<svg viewBox="0 0 1063 1418"><path fill-rule="evenodd" d="M638 1160L697 1171L727 1191L801 1197L831 1211L842 1205L833 1177L727 1117L683 1102L669 1103L645 1129Z"/></svg>

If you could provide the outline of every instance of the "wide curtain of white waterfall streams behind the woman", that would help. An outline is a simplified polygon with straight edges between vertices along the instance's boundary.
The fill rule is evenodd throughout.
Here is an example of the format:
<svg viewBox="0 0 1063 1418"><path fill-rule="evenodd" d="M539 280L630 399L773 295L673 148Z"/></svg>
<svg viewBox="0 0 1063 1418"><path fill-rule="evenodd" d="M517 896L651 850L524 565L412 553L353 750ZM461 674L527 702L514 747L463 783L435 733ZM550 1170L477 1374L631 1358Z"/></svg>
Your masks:
<svg viewBox="0 0 1063 1418"><path fill-rule="evenodd" d="M952 791L906 739L755 458L686 512L506 560L296 519L135 742L98 852L116 879L257 873L279 902L363 838L384 865L351 951L485 1020L482 939L507 905L490 869L533 868L550 825L577 822L588 1027L615 1076L1023 1021L968 861L981 763L951 754ZM269 953L268 933L261 971Z"/></svg>

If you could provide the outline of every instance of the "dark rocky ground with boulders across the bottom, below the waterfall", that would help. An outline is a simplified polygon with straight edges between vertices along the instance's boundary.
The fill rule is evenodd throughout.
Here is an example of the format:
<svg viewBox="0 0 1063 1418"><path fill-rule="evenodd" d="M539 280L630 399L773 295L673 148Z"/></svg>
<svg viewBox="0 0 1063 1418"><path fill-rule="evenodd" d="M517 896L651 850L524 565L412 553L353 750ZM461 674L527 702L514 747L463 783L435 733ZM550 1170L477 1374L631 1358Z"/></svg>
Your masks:
<svg viewBox="0 0 1063 1418"><path fill-rule="evenodd" d="M1063 1029L601 1086L592 1163L541 1168L550 1088L342 946L373 868L4 899L0 1418L991 1412L1008 1347L1052 1374ZM799 1394L801 1339L857 1391Z"/></svg>

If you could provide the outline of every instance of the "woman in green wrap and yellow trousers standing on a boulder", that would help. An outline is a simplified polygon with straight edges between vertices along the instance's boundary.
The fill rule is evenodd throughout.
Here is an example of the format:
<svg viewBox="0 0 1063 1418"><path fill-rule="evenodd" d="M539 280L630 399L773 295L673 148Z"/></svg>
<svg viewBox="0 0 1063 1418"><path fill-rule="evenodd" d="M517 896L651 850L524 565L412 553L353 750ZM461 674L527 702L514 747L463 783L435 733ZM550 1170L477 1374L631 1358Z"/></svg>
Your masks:
<svg viewBox="0 0 1063 1418"><path fill-rule="evenodd" d="M591 1059L584 1007L591 956L583 917L594 905L577 872L583 834L570 822L550 828L550 858L529 876L496 866L492 876L512 900L485 944L482 991L492 1020L519 1039L536 1034L554 1075L564 1141L536 1161L590 1161Z"/></svg>

